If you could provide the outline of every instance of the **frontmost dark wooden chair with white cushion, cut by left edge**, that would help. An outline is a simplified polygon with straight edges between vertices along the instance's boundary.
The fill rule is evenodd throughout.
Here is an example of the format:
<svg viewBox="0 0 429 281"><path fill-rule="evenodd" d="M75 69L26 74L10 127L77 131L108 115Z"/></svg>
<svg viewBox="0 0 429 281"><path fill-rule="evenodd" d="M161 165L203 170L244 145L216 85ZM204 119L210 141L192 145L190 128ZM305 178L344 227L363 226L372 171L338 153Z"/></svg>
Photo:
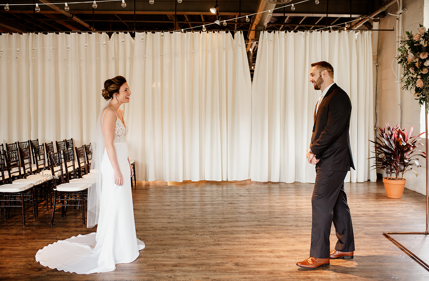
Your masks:
<svg viewBox="0 0 429 281"><path fill-rule="evenodd" d="M6 164L6 153L3 151L3 147L0 150L0 169L3 171L1 176L1 182L5 183L5 173L4 171L7 169ZM10 173L10 171L9 171ZM0 202L5 208L4 217L9 218L10 208L21 208L22 214L22 225L25 226L25 210L27 208L33 208L33 219L36 219L36 204L34 197L34 189L33 184L31 183L23 183L23 184L2 184L0 185ZM28 206L25 207L26 204Z"/></svg>

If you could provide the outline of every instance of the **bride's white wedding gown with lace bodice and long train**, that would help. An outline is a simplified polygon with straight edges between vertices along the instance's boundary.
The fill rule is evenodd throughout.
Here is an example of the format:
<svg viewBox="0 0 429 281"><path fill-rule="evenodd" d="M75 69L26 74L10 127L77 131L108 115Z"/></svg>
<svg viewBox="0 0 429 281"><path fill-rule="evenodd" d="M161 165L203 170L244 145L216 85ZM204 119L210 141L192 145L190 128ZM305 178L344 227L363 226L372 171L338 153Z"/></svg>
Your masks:
<svg viewBox="0 0 429 281"><path fill-rule="evenodd" d="M125 120L124 120L125 122ZM37 251L36 261L51 269L90 274L115 270L117 263L131 263L145 248L137 239L128 163L127 123L119 118L115 124L113 145L124 179L122 186L114 182L114 172L106 149L101 161L103 185L97 233L73 236Z"/></svg>

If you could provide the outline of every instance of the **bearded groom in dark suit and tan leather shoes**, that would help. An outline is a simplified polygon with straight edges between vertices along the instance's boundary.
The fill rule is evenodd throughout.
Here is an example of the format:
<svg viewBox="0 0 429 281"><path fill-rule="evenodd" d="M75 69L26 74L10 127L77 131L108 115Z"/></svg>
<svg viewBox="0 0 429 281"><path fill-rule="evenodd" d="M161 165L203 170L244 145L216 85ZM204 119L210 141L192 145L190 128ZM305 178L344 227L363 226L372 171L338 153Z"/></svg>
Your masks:
<svg viewBox="0 0 429 281"><path fill-rule="evenodd" d="M320 90L308 163L316 165L311 197L312 224L310 257L296 263L305 268L329 266L329 259L353 258L354 237L350 209L344 192L344 178L354 169L350 149L350 98L334 83L334 69L326 61L311 64L310 82ZM338 242L329 253L332 222Z"/></svg>

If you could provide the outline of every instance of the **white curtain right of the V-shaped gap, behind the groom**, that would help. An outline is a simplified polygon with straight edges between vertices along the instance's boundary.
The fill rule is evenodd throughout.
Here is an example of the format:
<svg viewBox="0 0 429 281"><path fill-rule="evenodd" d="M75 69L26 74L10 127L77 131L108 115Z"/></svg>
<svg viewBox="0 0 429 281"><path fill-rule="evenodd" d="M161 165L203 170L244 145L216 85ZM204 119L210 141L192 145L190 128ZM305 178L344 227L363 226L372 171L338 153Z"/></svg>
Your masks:
<svg viewBox="0 0 429 281"><path fill-rule="evenodd" d="M314 182L307 162L318 93L313 62L326 60L334 81L350 96L350 143L356 171L346 181L376 180L372 44L370 32L261 32L252 85L251 179ZM320 93L320 92L319 92Z"/></svg>

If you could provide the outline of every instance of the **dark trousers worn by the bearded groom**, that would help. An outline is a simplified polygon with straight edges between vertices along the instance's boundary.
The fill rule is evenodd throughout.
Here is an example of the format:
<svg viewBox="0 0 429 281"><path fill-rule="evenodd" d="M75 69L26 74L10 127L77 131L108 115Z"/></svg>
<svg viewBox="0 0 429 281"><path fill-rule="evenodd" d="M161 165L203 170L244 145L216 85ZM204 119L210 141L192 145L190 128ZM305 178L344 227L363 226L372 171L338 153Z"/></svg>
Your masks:
<svg viewBox="0 0 429 281"><path fill-rule="evenodd" d="M344 178L347 171L316 170L316 182L311 197L312 223L310 257L329 258L329 234L332 222L338 238L335 250L354 251L353 226Z"/></svg>

